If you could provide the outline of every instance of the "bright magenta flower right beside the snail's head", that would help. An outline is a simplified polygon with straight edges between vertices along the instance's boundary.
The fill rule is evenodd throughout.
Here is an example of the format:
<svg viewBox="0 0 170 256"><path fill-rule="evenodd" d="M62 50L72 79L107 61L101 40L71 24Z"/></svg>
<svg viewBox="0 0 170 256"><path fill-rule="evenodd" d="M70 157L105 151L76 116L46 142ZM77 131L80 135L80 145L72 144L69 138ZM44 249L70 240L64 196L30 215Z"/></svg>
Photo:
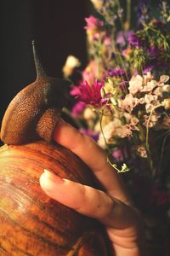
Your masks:
<svg viewBox="0 0 170 256"><path fill-rule="evenodd" d="M74 86L71 90L71 95L81 102L99 107L102 103L101 88L104 86L103 82L97 79L91 86L87 81L81 82L78 86Z"/></svg>

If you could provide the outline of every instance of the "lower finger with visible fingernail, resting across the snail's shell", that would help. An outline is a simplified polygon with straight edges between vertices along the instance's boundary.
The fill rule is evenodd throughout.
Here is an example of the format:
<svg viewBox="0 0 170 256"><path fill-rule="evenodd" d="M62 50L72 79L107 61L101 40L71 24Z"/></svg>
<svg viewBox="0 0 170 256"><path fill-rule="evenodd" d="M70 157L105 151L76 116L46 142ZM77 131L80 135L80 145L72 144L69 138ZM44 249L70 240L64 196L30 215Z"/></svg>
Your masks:
<svg viewBox="0 0 170 256"><path fill-rule="evenodd" d="M88 217L98 218L110 227L125 229L134 221L130 207L98 189L62 179L47 170L42 173L40 184L55 201Z"/></svg>

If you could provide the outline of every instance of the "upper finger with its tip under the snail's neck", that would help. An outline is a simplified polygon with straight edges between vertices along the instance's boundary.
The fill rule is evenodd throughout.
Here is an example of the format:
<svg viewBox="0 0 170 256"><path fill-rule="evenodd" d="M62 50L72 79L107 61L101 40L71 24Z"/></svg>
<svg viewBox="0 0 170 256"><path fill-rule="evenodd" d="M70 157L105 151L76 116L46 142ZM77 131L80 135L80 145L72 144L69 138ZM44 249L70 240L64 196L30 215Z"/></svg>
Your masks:
<svg viewBox="0 0 170 256"><path fill-rule="evenodd" d="M77 154L111 195L121 201L129 202L122 178L107 162L105 150L99 148L91 137L83 135L60 119L54 130L54 141Z"/></svg>

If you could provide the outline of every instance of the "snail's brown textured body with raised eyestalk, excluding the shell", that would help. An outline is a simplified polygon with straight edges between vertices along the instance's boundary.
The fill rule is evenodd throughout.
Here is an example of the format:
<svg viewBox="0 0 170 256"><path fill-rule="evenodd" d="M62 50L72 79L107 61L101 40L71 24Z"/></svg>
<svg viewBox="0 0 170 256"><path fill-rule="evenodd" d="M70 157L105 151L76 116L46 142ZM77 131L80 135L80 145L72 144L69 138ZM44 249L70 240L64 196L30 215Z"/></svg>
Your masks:
<svg viewBox="0 0 170 256"><path fill-rule="evenodd" d="M48 77L37 57L34 42L32 46L37 79L9 103L1 127L3 143L23 144L40 138L50 142L61 109L67 102L71 83Z"/></svg>

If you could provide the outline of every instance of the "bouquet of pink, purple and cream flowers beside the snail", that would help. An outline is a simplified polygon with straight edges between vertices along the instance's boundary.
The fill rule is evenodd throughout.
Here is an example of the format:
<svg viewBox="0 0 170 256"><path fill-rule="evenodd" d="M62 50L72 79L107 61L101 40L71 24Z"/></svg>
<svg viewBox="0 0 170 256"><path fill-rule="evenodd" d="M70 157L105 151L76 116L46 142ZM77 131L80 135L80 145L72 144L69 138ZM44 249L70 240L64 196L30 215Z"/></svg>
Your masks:
<svg viewBox="0 0 170 256"><path fill-rule="evenodd" d="M80 131L105 148L113 172L125 172L144 213L150 247L156 247L153 255L169 255L170 6L166 1L91 2L94 15L85 18L84 27L88 65L71 89L71 116ZM69 56L65 77L79 67L80 61Z"/></svg>

